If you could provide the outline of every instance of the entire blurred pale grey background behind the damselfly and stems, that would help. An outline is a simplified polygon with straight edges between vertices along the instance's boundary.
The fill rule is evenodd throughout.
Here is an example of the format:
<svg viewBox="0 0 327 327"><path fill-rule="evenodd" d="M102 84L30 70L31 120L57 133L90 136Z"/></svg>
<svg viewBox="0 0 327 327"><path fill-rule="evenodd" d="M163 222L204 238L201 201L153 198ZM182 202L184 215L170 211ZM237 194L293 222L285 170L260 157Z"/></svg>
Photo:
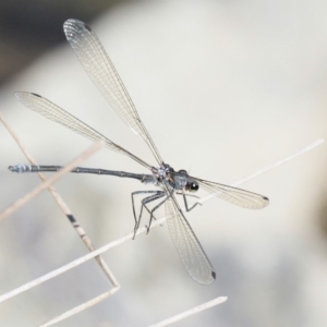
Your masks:
<svg viewBox="0 0 327 327"><path fill-rule="evenodd" d="M92 143L24 108L15 90L45 96L155 164L65 41L63 22L80 19L102 41L165 160L232 183L327 137L326 14L315 0L2 1L1 114L40 165L64 165ZM4 209L39 179L10 173L26 159L3 126L0 140ZM229 301L175 326L326 326L326 164L323 145L242 185L270 198L264 210L214 199L187 215L216 267L214 284L189 277L164 226L106 253L121 290L59 326L147 326L219 295ZM146 172L109 150L84 166ZM148 189L74 174L56 187L96 246L133 230L130 193ZM1 294L87 252L47 192L2 221L0 249ZM1 303L0 325L35 326L110 288L90 262Z"/></svg>

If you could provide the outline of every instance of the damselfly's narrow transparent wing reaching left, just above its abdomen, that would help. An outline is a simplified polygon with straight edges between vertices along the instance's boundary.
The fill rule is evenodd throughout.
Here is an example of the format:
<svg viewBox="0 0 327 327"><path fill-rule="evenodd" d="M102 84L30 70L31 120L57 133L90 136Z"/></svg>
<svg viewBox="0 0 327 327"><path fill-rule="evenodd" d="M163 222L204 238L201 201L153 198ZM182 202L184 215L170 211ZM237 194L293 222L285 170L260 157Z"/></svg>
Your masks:
<svg viewBox="0 0 327 327"><path fill-rule="evenodd" d="M17 92L15 93L15 97L28 109L34 110L43 114L44 117L66 126L68 129L83 135L84 137L90 141L102 140L107 148L126 155L148 169L152 168L150 165L146 164L145 161L137 158L133 154L129 153L124 148L114 144L109 138L107 138L99 132L95 131L93 128L88 126L87 124L85 124L84 122L75 118L74 116L68 113L60 107L56 106L51 101L47 100L46 98L37 94L27 93L27 92Z"/></svg>

